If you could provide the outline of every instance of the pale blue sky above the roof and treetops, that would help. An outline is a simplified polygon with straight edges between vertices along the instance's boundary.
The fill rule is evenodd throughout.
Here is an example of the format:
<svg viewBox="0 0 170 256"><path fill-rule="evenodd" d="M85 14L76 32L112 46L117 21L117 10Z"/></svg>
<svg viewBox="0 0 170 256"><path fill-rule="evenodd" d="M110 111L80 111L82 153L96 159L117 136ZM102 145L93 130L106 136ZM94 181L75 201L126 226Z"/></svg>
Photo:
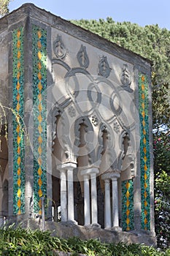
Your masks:
<svg viewBox="0 0 170 256"><path fill-rule="evenodd" d="M66 20L112 17L115 21L130 21L139 26L158 24L170 30L170 0L12 0L9 11L26 2Z"/></svg>

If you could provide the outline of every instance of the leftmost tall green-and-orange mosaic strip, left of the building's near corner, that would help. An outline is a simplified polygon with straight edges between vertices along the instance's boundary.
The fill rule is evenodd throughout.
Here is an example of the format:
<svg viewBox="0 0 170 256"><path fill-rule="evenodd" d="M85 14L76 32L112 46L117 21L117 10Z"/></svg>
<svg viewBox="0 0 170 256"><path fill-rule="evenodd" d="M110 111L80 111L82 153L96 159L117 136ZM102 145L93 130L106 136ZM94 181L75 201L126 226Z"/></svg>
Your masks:
<svg viewBox="0 0 170 256"><path fill-rule="evenodd" d="M23 27L12 32L13 213L25 213Z"/></svg>

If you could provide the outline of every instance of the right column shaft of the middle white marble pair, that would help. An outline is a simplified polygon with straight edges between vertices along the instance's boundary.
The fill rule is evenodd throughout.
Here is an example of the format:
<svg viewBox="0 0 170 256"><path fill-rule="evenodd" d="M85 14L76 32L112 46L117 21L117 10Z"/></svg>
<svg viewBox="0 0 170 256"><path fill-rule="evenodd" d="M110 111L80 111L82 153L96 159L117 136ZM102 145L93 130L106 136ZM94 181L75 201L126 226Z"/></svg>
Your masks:
<svg viewBox="0 0 170 256"><path fill-rule="evenodd" d="M98 208L97 208L97 184L96 173L90 173L91 178L91 223L98 223Z"/></svg>

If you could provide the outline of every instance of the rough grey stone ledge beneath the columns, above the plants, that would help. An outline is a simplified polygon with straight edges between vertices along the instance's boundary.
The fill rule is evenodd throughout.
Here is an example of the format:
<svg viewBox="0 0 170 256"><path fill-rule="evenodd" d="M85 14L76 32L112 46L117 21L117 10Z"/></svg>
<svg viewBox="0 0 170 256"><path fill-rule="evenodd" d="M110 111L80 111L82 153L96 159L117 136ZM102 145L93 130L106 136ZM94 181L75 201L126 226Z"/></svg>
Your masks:
<svg viewBox="0 0 170 256"><path fill-rule="evenodd" d="M17 225L22 225L25 228L32 230L41 229L42 223L34 219L26 219L18 222ZM89 240L91 238L98 239L102 243L128 243L128 244L145 244L147 246L156 246L155 235L142 230L141 232L134 231L118 231L118 230L104 230L101 227L85 227L75 225L71 222L45 222L45 230L50 230L52 236L61 238L70 238L77 236L82 240Z"/></svg>

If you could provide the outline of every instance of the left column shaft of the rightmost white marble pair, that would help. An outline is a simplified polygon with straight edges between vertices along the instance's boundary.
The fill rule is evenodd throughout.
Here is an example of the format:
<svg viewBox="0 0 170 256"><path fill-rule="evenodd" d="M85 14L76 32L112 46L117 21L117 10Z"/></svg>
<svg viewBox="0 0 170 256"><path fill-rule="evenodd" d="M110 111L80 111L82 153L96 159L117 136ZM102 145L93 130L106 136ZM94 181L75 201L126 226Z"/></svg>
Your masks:
<svg viewBox="0 0 170 256"><path fill-rule="evenodd" d="M111 228L111 202L110 202L110 180L106 178L104 180L104 192L105 192L105 201L104 201L104 227Z"/></svg>

